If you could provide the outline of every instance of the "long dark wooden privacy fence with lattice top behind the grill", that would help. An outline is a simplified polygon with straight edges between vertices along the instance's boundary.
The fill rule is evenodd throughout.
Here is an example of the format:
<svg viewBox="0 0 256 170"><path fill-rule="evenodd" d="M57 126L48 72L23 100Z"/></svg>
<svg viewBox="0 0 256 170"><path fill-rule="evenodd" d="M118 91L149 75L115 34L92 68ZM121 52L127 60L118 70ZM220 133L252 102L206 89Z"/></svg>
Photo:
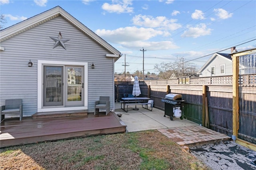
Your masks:
<svg viewBox="0 0 256 170"><path fill-rule="evenodd" d="M231 78L230 78L231 77ZM209 128L232 136L233 134L233 87L232 76L221 77L197 77L189 78L189 84L179 83L174 80L150 80L140 82L142 97L150 97L154 100L154 107L164 110L164 102L161 99L168 93L177 93L182 95L184 103L184 119L188 119L205 126L206 113L209 119ZM191 80L192 79L192 80ZM187 79L188 81L188 79ZM195 83L196 82L196 83ZM206 83L207 82L207 83ZM243 86L240 92L244 103L243 107L247 109L241 111L243 125L250 124L255 126L256 118L256 74L243 75L239 84ZM174 84L175 83L175 84ZM115 83L116 101L123 97L124 93L132 93L132 83ZM205 100L207 99L207 101ZM206 103L208 104L206 106ZM208 109L206 111L206 109ZM252 126L240 126L239 135L243 139L256 144L255 128Z"/></svg>

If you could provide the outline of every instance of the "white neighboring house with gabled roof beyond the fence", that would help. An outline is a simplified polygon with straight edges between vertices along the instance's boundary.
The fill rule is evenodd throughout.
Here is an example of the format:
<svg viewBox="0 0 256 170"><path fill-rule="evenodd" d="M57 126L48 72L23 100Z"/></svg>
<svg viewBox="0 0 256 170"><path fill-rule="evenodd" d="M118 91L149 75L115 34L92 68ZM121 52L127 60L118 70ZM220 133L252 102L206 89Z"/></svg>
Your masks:
<svg viewBox="0 0 256 170"><path fill-rule="evenodd" d="M197 73L199 77L232 75L230 54L214 53Z"/></svg>

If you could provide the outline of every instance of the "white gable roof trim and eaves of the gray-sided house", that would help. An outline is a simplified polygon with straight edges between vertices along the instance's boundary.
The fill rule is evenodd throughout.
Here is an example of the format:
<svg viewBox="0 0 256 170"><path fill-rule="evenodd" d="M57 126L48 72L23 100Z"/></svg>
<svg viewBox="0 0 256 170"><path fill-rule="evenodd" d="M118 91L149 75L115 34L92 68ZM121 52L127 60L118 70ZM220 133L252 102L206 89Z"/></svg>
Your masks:
<svg viewBox="0 0 256 170"><path fill-rule="evenodd" d="M71 16L68 12L63 10L60 6L56 6L50 10L47 10L46 12L43 12L41 14L28 18L27 20L19 22L18 24L14 24L13 26L10 26L8 28L1 30L0 42L8 40L9 38L12 38L22 32L25 32L26 30L34 28L58 16L62 16L63 18L65 18L68 22L73 24L76 28L78 28L84 34L92 38L92 40L94 40L95 42L102 45L102 47L107 49L110 52L110 54L106 54L106 57L114 57L115 61L117 61L122 56L122 54L117 49L112 47L112 45L110 45L105 40L100 38L97 34L92 32L92 30L84 26L84 24L76 20L76 18Z"/></svg>

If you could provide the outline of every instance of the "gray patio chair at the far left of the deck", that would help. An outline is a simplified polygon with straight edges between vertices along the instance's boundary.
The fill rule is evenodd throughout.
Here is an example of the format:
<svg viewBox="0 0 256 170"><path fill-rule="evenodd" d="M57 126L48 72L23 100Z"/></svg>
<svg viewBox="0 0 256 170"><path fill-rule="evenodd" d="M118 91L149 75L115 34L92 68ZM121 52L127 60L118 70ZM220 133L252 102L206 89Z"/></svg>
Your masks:
<svg viewBox="0 0 256 170"><path fill-rule="evenodd" d="M7 99L5 105L1 106L1 121L4 120L4 115L20 115L20 121L23 117L22 99Z"/></svg>

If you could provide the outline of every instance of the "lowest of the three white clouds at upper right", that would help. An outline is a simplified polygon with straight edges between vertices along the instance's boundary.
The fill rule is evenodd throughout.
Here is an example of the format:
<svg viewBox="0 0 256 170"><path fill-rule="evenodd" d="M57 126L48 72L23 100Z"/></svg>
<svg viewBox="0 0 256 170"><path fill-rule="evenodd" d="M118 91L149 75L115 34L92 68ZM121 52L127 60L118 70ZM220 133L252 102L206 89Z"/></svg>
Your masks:
<svg viewBox="0 0 256 170"><path fill-rule="evenodd" d="M198 38L200 36L210 35L212 29L206 28L206 24L199 24L196 27L188 26L188 30L184 31L181 37Z"/></svg>

